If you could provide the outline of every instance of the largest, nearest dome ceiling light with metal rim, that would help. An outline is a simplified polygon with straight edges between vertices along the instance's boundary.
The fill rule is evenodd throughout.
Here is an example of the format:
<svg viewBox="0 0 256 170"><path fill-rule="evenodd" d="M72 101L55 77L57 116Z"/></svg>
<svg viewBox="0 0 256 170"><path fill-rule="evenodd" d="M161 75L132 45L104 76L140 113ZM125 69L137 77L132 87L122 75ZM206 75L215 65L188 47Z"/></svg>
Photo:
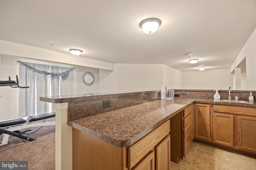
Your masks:
<svg viewBox="0 0 256 170"><path fill-rule="evenodd" d="M156 32L161 23L161 20L159 20L158 18L147 18L140 22L140 27L142 28L144 33L151 34Z"/></svg>

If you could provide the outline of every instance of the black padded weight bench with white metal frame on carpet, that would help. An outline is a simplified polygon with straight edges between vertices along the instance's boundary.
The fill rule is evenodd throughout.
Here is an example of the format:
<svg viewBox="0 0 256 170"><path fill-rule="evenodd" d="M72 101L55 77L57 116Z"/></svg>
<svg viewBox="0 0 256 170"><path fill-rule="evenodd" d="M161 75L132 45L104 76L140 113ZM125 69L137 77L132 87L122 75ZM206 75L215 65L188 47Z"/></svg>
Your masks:
<svg viewBox="0 0 256 170"><path fill-rule="evenodd" d="M52 122L45 121L46 119L51 118L51 117L55 117L55 112L30 116L30 117L28 117L29 124L26 124L27 121L22 118L0 122L0 135L2 133L4 133L4 137L2 139L2 143L0 144L0 146L8 144L9 135L19 137L21 139L25 139L28 141L36 140L36 139L29 138L29 137L25 136L25 135L31 134L31 133L26 133L31 130L26 130L26 131L19 131L19 130L25 129L28 127L40 126L38 129L36 129L35 131L32 132L32 133L34 133L34 132L38 131L42 126L55 125L55 121L52 121ZM32 123L34 121L39 121L39 120L43 120L43 122L42 123Z"/></svg>

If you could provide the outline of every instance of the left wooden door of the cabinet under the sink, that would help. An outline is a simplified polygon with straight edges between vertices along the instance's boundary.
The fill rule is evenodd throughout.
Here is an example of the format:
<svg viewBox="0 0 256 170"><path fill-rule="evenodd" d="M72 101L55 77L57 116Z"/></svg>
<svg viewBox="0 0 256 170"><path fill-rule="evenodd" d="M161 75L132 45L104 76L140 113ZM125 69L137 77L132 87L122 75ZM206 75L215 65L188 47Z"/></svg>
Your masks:
<svg viewBox="0 0 256 170"><path fill-rule="evenodd" d="M233 147L234 143L234 116L222 113L213 113L213 143Z"/></svg>

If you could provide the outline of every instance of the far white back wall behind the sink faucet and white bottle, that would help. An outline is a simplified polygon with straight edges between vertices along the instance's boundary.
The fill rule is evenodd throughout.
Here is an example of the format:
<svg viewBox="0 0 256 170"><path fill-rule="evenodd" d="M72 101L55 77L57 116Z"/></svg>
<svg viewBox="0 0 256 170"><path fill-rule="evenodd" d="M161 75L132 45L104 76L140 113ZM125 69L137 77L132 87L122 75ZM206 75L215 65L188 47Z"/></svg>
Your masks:
<svg viewBox="0 0 256 170"><path fill-rule="evenodd" d="M183 89L223 89L233 88L233 74L230 69L183 72Z"/></svg>

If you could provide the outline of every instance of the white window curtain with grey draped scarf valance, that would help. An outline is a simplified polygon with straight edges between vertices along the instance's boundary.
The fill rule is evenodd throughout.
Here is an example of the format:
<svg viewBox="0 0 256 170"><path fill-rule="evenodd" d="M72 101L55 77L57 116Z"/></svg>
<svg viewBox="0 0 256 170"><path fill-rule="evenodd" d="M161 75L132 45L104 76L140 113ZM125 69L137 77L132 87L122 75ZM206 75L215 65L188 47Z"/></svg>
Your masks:
<svg viewBox="0 0 256 170"><path fill-rule="evenodd" d="M40 96L74 94L75 68L18 62L20 86L29 86L19 90L19 117L53 112L52 104Z"/></svg>

